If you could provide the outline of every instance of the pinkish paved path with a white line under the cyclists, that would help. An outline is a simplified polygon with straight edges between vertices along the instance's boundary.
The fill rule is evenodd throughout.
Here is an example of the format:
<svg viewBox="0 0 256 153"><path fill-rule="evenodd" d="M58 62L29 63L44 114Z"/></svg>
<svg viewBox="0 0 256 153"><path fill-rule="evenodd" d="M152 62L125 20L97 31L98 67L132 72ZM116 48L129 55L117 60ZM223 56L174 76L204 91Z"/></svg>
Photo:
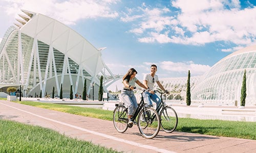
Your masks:
<svg viewBox="0 0 256 153"><path fill-rule="evenodd" d="M160 131L143 138L137 126L118 133L112 121L72 115L0 100L0 119L39 125L61 134L124 152L256 152L256 140Z"/></svg>

